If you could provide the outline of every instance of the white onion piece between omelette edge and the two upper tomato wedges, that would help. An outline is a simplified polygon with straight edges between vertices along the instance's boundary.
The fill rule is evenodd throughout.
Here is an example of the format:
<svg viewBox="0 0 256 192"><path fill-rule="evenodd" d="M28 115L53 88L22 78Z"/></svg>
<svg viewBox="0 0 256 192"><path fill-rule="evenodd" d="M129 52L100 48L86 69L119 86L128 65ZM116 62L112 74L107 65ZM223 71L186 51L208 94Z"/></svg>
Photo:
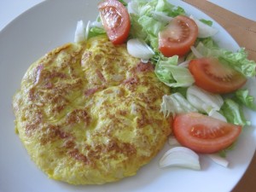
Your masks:
<svg viewBox="0 0 256 192"><path fill-rule="evenodd" d="M149 60L154 55L153 49L138 38L131 38L128 40L127 50L130 55L142 60Z"/></svg>

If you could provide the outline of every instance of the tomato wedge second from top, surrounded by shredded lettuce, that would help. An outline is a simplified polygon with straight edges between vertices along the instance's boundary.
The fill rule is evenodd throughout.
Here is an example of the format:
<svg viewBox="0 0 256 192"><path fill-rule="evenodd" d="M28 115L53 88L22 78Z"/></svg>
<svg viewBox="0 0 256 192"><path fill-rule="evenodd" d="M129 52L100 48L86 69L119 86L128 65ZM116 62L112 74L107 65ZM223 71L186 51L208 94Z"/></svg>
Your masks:
<svg viewBox="0 0 256 192"><path fill-rule="evenodd" d="M195 43L198 27L194 20L178 15L159 33L159 49L165 56L183 56Z"/></svg>

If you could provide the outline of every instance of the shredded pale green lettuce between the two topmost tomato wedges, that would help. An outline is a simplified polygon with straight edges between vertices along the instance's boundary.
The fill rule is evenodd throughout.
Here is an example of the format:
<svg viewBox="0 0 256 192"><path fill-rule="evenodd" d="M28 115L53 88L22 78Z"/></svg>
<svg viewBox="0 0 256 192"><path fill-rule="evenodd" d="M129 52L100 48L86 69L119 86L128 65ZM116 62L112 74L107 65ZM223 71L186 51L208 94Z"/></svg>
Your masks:
<svg viewBox="0 0 256 192"><path fill-rule="evenodd" d="M161 12L166 16L175 17L185 15L183 8L176 7L167 0L139 0L131 1L128 7L131 7L131 38L141 38L149 44L155 52L158 49L158 33L166 25L166 21L158 20L153 15L155 12Z"/></svg>

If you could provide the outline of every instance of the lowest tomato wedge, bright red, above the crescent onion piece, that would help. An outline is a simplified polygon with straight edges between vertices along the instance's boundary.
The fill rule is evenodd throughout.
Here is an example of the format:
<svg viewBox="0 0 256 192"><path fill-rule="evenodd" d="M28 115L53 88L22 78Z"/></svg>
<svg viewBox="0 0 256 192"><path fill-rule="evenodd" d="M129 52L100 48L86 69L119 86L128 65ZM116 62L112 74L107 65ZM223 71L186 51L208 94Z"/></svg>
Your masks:
<svg viewBox="0 0 256 192"><path fill-rule="evenodd" d="M229 147L241 133L240 125L194 112L177 114L172 129L179 143L202 154Z"/></svg>

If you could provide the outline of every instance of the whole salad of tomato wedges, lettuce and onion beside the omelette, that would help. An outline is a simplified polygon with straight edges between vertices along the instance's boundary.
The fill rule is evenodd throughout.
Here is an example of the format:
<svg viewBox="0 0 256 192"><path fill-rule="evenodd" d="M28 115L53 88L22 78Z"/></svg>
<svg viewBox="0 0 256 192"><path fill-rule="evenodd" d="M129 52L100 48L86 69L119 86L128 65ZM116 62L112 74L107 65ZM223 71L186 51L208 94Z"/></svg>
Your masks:
<svg viewBox="0 0 256 192"><path fill-rule="evenodd" d="M75 42L107 34L113 44L127 44L128 52L170 87L160 113L172 116L172 148L160 167L200 169L198 154L207 154L228 166L226 153L236 146L242 129L250 125L242 108L256 110L245 88L256 75L256 63L241 48L236 52L218 46L218 30L211 20L188 15L167 0L104 0L99 16L87 26L81 20Z"/></svg>

